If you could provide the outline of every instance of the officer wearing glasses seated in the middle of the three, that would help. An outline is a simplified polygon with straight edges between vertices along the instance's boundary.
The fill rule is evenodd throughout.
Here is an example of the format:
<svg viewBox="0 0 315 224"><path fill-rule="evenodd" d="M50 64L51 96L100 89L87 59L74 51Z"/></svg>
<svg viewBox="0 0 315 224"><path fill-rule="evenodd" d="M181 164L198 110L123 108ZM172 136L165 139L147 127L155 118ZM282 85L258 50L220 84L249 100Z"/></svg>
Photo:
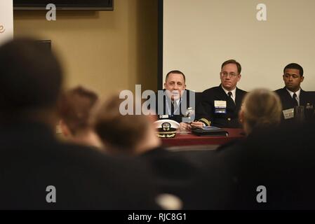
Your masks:
<svg viewBox="0 0 315 224"><path fill-rule="evenodd" d="M239 110L246 94L236 87L241 80L241 64L234 59L224 62L220 79L219 86L203 91L196 118L207 126L240 127ZM192 127L199 127L199 124L192 123Z"/></svg>

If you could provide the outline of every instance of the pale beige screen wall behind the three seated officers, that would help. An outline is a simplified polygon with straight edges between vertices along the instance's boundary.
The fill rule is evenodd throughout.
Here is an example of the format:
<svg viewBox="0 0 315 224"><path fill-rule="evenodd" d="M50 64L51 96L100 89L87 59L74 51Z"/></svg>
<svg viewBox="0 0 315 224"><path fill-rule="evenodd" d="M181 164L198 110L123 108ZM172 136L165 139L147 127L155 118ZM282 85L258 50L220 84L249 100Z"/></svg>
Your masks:
<svg viewBox="0 0 315 224"><path fill-rule="evenodd" d="M256 6L267 6L267 21ZM164 0L163 74L181 69L187 88L219 85L220 66L243 66L239 87L283 87L283 67L304 68L304 90L315 90L314 0Z"/></svg>

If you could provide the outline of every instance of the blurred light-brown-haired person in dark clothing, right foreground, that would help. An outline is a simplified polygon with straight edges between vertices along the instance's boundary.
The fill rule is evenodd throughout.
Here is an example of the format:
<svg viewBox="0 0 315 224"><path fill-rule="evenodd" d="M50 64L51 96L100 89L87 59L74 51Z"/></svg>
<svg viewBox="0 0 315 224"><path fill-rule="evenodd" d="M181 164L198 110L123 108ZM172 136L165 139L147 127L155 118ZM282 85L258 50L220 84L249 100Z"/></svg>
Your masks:
<svg viewBox="0 0 315 224"><path fill-rule="evenodd" d="M231 195L226 208L315 209L311 124L279 126L279 97L266 90L246 95L240 118L248 137L210 157L227 173Z"/></svg>

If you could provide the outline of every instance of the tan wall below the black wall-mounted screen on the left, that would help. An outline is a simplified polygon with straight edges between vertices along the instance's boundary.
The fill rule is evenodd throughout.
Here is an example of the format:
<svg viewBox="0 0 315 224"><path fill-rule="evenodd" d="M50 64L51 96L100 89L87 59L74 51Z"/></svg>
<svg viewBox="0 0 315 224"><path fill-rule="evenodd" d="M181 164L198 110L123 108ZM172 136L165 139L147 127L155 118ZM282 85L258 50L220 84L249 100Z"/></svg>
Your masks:
<svg viewBox="0 0 315 224"><path fill-rule="evenodd" d="M15 11L15 36L51 39L65 69L65 86L83 85L106 95L156 90L157 0L115 0L114 11Z"/></svg>

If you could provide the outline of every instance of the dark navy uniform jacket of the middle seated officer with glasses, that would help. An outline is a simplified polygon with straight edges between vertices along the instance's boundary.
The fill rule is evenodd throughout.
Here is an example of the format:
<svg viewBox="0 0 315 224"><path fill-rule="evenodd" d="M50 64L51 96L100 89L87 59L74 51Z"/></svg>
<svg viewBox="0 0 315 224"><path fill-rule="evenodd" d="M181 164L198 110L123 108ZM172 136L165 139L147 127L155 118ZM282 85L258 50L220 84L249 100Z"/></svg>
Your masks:
<svg viewBox="0 0 315 224"><path fill-rule="evenodd" d="M236 88L235 104L228 100L221 85L203 91L201 104L197 107L196 118L201 122L216 127L241 127L239 124L239 110L246 91ZM226 101L226 113L215 113L215 101Z"/></svg>

